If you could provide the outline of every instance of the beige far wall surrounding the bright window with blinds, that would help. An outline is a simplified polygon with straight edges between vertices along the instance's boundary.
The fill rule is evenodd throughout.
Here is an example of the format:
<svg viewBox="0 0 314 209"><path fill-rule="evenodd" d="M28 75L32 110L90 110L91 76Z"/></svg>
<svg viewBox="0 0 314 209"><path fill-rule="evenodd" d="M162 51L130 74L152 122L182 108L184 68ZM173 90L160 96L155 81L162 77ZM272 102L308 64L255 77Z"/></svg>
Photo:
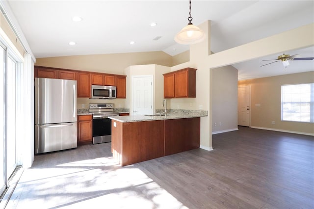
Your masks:
<svg viewBox="0 0 314 209"><path fill-rule="evenodd" d="M281 85L310 82L314 71L238 81L238 86L251 86L251 127L314 134L313 123L281 121Z"/></svg>

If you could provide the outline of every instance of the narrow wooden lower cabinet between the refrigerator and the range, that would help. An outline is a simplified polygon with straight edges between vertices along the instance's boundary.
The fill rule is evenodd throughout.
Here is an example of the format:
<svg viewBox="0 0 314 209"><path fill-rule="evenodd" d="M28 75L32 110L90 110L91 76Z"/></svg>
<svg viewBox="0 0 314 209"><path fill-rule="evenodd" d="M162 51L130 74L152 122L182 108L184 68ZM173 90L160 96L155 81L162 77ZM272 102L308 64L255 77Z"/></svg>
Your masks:
<svg viewBox="0 0 314 209"><path fill-rule="evenodd" d="M92 143L92 123L92 115L78 115L78 145Z"/></svg>

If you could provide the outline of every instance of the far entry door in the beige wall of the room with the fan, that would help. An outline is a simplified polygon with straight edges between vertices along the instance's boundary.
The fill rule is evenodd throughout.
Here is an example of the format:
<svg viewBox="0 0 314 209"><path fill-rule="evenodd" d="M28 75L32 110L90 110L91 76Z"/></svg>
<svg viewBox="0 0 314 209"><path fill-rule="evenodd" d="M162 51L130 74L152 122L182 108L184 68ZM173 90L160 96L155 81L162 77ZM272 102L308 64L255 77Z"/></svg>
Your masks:
<svg viewBox="0 0 314 209"><path fill-rule="evenodd" d="M237 88L237 124L250 126L251 109L251 86Z"/></svg>

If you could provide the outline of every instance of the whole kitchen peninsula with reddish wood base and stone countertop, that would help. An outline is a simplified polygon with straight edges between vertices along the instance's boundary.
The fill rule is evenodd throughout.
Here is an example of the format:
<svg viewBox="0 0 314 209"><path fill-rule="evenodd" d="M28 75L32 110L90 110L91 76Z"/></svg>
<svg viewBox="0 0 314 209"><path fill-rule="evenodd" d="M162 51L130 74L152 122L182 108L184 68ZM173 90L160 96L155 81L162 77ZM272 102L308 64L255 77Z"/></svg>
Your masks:
<svg viewBox="0 0 314 209"><path fill-rule="evenodd" d="M121 166L200 147L200 117L207 111L166 116L110 116L111 152Z"/></svg>

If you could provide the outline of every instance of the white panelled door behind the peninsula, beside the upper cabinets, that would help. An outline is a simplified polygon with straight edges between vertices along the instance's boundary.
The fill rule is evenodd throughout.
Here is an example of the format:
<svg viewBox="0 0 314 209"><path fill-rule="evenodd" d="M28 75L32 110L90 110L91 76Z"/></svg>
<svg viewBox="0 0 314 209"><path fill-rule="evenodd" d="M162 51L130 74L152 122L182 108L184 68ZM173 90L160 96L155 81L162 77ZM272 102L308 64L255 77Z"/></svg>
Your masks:
<svg viewBox="0 0 314 209"><path fill-rule="evenodd" d="M131 114L153 114L153 75L132 77Z"/></svg>

